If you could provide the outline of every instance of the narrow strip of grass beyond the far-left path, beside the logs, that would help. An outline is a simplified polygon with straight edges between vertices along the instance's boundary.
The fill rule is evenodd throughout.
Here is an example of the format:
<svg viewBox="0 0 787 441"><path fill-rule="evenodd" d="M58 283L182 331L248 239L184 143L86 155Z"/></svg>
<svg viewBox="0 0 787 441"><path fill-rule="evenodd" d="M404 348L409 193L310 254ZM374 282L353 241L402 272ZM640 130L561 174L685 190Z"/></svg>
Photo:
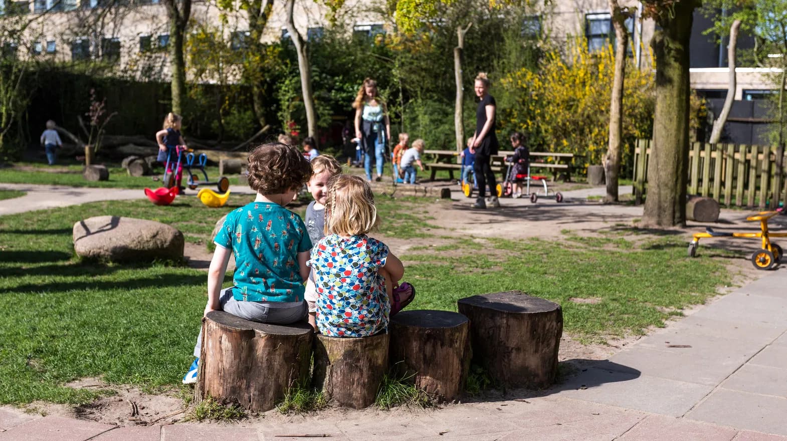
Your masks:
<svg viewBox="0 0 787 441"><path fill-rule="evenodd" d="M35 170L4 168L0 171L0 182L120 189L158 188L161 186L161 180L153 181L153 178L161 178L161 172L163 171L163 167L158 167L155 175L134 177L129 176L127 171L121 168L119 164L107 164L109 169L108 181L87 181L82 177L82 165L71 164L53 168L43 167L42 164L38 163L17 163L17 165L35 168ZM205 167L205 171L210 179L215 180L219 177L219 167ZM200 172L198 172L198 176L202 178ZM230 179L231 184L238 183L237 176L228 176L227 178ZM185 186L186 177L184 176L183 179L183 185ZM209 188L212 188L212 186Z"/></svg>

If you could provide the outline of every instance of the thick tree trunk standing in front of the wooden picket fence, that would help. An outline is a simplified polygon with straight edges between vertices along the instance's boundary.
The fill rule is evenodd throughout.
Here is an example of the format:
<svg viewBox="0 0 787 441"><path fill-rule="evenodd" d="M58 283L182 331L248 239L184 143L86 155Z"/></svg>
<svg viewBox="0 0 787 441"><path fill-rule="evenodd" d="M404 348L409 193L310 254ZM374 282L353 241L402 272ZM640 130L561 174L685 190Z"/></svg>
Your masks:
<svg viewBox="0 0 787 441"><path fill-rule="evenodd" d="M689 39L696 0L656 17L656 111L643 223L685 226L689 174Z"/></svg>

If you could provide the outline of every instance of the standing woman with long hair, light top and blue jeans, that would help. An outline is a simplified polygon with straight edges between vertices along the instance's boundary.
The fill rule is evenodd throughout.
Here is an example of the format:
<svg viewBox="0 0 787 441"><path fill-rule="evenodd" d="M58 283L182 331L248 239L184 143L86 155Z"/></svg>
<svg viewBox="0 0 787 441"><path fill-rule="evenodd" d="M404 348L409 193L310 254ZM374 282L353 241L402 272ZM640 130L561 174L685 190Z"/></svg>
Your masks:
<svg viewBox="0 0 787 441"><path fill-rule="evenodd" d="M355 108L355 136L360 139L360 149L366 153L364 169L366 178L371 181L371 161L377 163L375 181L382 178L382 160L386 151L386 141L391 140L390 119L386 103L377 94L377 82L364 79L353 102Z"/></svg>

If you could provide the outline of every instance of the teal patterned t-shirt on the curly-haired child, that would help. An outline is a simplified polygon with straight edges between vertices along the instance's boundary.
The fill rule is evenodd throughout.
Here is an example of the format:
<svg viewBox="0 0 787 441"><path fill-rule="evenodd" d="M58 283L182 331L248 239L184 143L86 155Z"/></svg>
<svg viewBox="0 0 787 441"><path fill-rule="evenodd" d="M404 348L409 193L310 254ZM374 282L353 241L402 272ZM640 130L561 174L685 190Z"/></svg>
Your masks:
<svg viewBox="0 0 787 441"><path fill-rule="evenodd" d="M270 202L230 211L214 239L235 255L235 300L300 302L304 285L297 253L312 241L301 216Z"/></svg>

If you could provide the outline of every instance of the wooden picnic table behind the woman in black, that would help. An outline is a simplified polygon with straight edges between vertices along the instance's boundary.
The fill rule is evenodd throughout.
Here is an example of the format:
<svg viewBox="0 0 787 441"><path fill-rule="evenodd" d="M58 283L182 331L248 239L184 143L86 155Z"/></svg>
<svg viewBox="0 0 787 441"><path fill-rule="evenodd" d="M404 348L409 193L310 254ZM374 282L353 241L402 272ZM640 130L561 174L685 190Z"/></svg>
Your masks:
<svg viewBox="0 0 787 441"><path fill-rule="evenodd" d="M453 171L461 170L462 165L456 164L459 157L459 152L456 150L424 150L424 155L435 156L435 160L424 164L429 167L431 171L431 180L434 181L434 176L438 170L448 170L449 176L453 179ZM492 171L501 172L503 174L502 180L506 176L505 172L508 170L505 164L505 158L513 156L513 151L501 150L497 155L492 156ZM530 168L546 168L552 171L552 182L557 178L559 171L564 170L566 173L566 180L571 180L571 161L574 160L576 155L574 153L549 153L549 152L530 152ZM546 158L554 158L552 162L545 162ZM454 160L454 161L452 161Z"/></svg>

